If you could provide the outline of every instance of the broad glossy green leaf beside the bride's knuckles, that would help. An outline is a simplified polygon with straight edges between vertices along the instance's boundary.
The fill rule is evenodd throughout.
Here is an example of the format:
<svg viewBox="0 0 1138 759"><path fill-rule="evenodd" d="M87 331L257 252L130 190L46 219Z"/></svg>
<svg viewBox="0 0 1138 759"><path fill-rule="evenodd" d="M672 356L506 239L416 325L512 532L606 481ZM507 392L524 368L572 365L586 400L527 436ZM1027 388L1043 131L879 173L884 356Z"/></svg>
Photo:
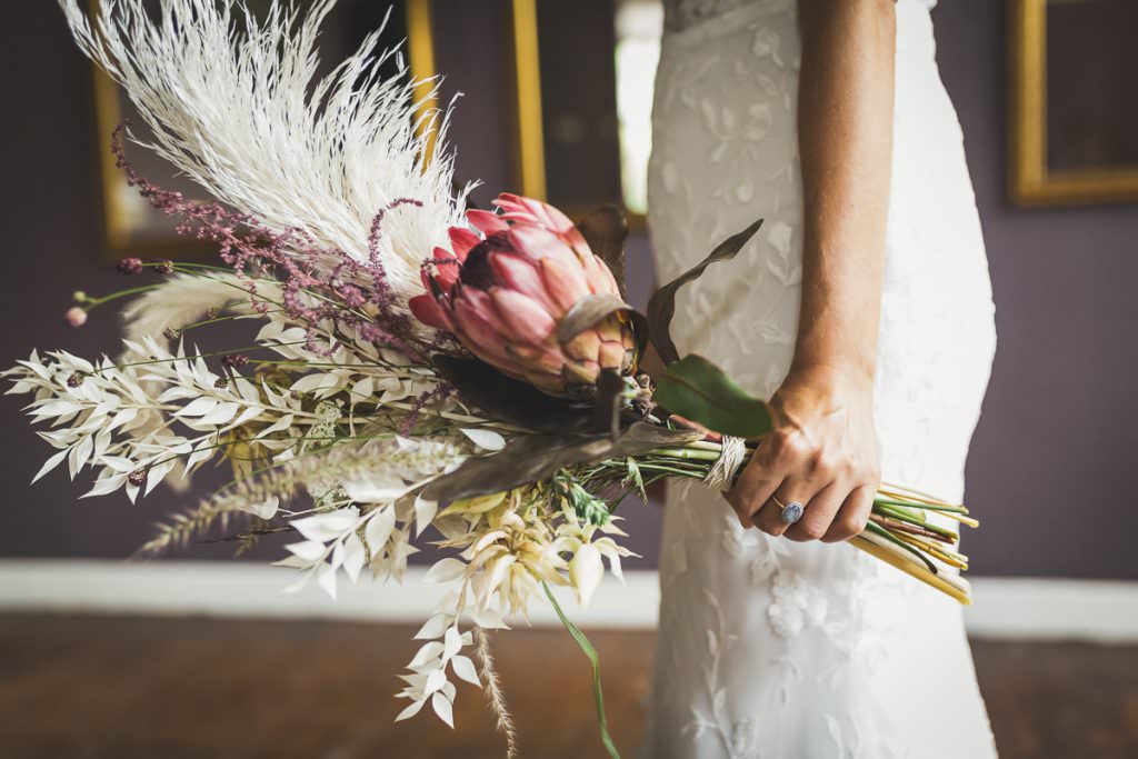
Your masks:
<svg viewBox="0 0 1138 759"><path fill-rule="evenodd" d="M695 354L668 366L654 397L668 411L724 435L759 437L773 428L767 404Z"/></svg>

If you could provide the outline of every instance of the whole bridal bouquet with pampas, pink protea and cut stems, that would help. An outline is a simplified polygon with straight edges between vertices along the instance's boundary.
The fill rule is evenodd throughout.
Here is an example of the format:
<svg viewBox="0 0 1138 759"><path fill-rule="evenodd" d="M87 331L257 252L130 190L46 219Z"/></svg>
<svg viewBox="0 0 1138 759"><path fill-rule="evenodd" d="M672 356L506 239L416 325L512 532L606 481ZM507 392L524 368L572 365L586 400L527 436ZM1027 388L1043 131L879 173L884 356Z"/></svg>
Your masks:
<svg viewBox="0 0 1138 759"><path fill-rule="evenodd" d="M451 724L455 682L481 685L512 752L486 630L538 596L556 607L551 586L588 603L605 562L619 577L629 553L616 515L625 496L671 477L729 487L770 430L760 399L681 358L669 337L677 290L761 222L640 314L624 299L619 212L575 224L508 193L468 208L447 114L417 116L419 83L377 75L395 55L377 53L377 35L316 77L331 0L261 18L234 15L232 0L164 0L157 19L142 0L104 0L93 26L76 0L60 2L145 119L145 147L216 201L140 176L119 127L113 149L130 183L182 233L215 244L220 263L123 261L137 287L76 294L67 313L80 325L130 296L121 354L33 353L6 372L56 449L36 478L66 463L73 478L91 472L88 495L134 502L224 460L231 481L142 553L211 531L242 547L287 531L278 563L333 596L365 570L402 579L415 543L440 546L427 580L452 589L415 636L397 719L429 704ZM212 347L229 322L247 344ZM667 365L654 382L638 372L649 344ZM963 506L882 487L851 544L966 603L956 531L932 514L975 525ZM593 661L616 754L595 652L556 611Z"/></svg>

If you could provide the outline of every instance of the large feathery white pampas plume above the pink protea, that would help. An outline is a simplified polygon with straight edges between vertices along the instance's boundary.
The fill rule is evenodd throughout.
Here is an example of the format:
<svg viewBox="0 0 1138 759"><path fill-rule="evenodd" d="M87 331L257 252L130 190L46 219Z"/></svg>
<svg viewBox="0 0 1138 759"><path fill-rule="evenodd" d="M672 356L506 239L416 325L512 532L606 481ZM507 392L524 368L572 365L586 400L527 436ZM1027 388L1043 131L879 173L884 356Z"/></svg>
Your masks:
<svg viewBox="0 0 1138 759"><path fill-rule="evenodd" d="M102 0L93 17L58 1L80 48L149 126L142 145L265 228L365 261L376 214L414 198L388 214L380 255L404 300L422 291L420 264L462 223L470 188L453 191L450 109L417 116L422 83L404 76L402 58L397 76L379 76L397 56L379 49L380 32L318 79L335 0L304 14L272 3L261 18L236 0L164 0L157 23L145 0Z"/></svg>

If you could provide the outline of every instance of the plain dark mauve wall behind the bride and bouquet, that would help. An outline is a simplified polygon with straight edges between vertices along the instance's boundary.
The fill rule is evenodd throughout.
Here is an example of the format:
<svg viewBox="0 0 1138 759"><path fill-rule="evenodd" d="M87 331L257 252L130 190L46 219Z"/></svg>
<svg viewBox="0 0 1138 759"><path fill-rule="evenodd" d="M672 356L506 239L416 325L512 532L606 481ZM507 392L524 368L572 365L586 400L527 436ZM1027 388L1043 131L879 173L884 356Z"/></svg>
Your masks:
<svg viewBox="0 0 1138 759"><path fill-rule="evenodd" d="M1138 299L1131 292L1138 280L1138 207L1008 206L1004 3L943 0L935 19L941 71L967 139L1000 332L968 464L970 503L984 520L983 529L968 536L975 572L1138 578L1128 561L1129 536L1138 531L1130 495L1131 456L1138 451L1132 389ZM473 71L478 50L471 56ZM17 18L0 30L0 71L9 108L0 124L7 168L0 190L6 274L0 358L7 363L33 346L113 350L115 324L107 314L79 332L59 319L74 289L99 292L121 280L107 273L94 245L90 73L53 2L19 3ZM476 102L467 99L460 108ZM460 146L463 122L460 113ZM509 152L500 148L495 157ZM476 163L487 159L490 155L479 155ZM502 176L508 170L486 171ZM642 239L630 253L634 261L648 258ZM28 487L48 448L28 431L18 407L18 399L0 403L0 485L9 494L0 555L125 556L154 519L179 504L179 496L164 492L139 506L119 498L75 504L81 490L59 472ZM642 566L651 566L659 514L628 509L627 515L633 547L645 554ZM191 555L225 553L204 546ZM263 546L258 553L274 551Z"/></svg>

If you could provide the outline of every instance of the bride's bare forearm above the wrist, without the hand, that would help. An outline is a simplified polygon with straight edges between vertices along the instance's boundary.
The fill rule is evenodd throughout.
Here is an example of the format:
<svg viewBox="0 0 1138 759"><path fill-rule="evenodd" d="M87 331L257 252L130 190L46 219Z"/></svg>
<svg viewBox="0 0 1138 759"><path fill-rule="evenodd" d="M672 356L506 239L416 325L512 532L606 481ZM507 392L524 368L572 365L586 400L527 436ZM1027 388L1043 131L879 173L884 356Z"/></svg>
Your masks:
<svg viewBox="0 0 1138 759"><path fill-rule="evenodd" d="M892 0L802 0L802 303L792 372L873 377L892 164Z"/></svg>

